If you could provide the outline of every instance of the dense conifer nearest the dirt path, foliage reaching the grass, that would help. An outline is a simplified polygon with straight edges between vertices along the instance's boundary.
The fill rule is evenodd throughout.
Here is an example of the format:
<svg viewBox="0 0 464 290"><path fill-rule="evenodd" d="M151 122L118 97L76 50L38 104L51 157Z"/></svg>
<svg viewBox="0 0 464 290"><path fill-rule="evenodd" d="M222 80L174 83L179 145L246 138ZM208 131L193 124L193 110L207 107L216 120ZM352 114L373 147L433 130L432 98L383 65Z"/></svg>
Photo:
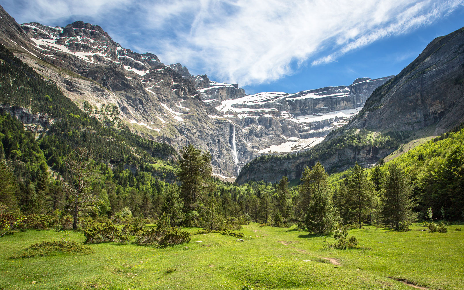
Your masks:
<svg viewBox="0 0 464 290"><path fill-rule="evenodd" d="M305 216L305 223L309 232L327 234L335 227L336 213L328 178L329 175L319 162L308 172L308 187L312 198Z"/></svg>

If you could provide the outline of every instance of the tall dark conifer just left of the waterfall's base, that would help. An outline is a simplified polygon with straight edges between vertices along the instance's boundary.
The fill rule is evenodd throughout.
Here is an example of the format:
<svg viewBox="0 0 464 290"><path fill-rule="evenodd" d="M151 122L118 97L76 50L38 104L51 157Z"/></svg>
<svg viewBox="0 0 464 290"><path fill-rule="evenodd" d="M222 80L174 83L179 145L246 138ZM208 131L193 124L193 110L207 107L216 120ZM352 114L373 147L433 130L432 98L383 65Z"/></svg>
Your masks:
<svg viewBox="0 0 464 290"><path fill-rule="evenodd" d="M216 189L211 178L211 153L202 153L200 149L189 144L180 149L180 155L180 196L184 199L186 209L193 210L197 199L203 199Z"/></svg>

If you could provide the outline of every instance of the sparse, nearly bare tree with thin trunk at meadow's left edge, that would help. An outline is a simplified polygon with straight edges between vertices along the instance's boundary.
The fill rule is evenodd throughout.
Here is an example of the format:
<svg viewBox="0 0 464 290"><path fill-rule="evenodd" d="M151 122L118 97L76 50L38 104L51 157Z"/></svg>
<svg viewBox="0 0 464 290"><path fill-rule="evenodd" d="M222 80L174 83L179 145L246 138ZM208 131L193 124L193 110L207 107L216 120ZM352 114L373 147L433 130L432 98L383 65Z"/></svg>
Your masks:
<svg viewBox="0 0 464 290"><path fill-rule="evenodd" d="M72 176L72 184L64 182L64 190L73 198L73 223L72 229L77 229L77 221L79 212L84 209L95 206L98 198L92 195L89 191L92 182L100 177L97 168L93 166L91 155L84 148L74 150L75 158L67 158L65 165Z"/></svg>

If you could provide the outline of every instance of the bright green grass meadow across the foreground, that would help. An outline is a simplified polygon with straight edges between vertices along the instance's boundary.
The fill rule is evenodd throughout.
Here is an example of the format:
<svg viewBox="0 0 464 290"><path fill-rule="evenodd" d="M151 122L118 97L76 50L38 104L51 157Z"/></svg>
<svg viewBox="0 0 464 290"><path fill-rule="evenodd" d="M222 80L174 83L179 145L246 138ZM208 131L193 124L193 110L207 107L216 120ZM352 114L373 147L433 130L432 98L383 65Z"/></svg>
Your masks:
<svg viewBox="0 0 464 290"><path fill-rule="evenodd" d="M327 250L324 241L333 238L251 224L240 230L244 242L212 233L166 249L102 243L90 245L95 253L89 255L12 259L31 244L62 236L18 232L0 238L0 289L414 289L393 278L427 289L464 289L464 231L457 227L429 233L419 224L411 232L367 226L349 234L370 250ZM71 232L69 239L83 242L84 235Z"/></svg>

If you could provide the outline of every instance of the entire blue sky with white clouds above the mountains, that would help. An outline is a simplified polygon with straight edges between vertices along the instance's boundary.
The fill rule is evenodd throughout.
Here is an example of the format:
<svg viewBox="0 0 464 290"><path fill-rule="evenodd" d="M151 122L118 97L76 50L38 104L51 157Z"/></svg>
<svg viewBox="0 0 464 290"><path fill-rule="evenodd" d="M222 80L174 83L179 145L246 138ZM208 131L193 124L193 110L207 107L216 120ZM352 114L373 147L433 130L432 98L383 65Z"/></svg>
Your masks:
<svg viewBox="0 0 464 290"><path fill-rule="evenodd" d="M102 26L123 47L247 93L397 74L464 26L464 0L0 0L19 23Z"/></svg>

